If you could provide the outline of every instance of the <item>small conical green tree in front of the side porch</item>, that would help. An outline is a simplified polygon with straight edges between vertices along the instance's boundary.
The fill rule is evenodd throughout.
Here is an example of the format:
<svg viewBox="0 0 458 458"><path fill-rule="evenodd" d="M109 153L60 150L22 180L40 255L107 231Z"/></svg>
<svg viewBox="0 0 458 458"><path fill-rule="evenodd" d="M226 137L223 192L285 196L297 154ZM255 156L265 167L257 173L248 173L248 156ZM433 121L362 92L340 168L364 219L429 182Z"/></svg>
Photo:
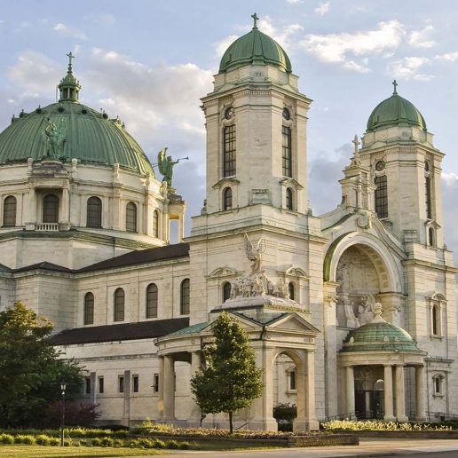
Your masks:
<svg viewBox="0 0 458 458"><path fill-rule="evenodd" d="M233 413L262 395L263 369L256 366L249 337L237 320L222 312L212 326L215 341L203 350L206 366L191 379L191 390L204 414L225 412L233 433Z"/></svg>

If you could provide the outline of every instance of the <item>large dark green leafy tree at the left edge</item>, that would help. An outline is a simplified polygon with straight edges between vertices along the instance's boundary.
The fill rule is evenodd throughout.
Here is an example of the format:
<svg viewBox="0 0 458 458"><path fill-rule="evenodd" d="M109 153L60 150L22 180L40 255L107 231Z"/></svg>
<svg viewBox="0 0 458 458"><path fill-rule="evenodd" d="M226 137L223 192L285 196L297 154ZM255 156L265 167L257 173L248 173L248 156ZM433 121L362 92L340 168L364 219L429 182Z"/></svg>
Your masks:
<svg viewBox="0 0 458 458"><path fill-rule="evenodd" d="M45 408L81 390L81 367L47 340L52 323L20 302L0 312L0 427L39 426Z"/></svg>

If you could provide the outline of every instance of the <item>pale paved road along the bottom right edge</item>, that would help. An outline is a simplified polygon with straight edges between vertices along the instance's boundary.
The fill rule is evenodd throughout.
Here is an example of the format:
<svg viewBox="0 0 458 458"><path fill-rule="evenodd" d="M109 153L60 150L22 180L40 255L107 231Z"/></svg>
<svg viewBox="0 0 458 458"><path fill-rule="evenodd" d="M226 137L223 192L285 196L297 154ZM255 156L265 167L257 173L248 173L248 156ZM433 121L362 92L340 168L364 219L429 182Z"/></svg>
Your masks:
<svg viewBox="0 0 458 458"><path fill-rule="evenodd" d="M171 456L165 454L162 456ZM177 458L338 458L371 456L421 456L422 458L458 458L457 439L415 440L361 438L359 446L326 446L304 448L282 448L275 450L253 450L244 452L176 452ZM156 455L157 456L157 455Z"/></svg>

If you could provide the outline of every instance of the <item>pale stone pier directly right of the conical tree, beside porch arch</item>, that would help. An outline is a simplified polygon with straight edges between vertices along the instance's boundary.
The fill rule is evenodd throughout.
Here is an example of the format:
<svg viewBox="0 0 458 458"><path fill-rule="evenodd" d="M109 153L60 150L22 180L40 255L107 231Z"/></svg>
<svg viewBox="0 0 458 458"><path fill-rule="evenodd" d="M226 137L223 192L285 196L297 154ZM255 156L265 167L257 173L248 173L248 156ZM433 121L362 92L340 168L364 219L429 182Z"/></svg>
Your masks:
<svg viewBox="0 0 458 458"><path fill-rule="evenodd" d="M249 420L250 430L277 430L277 421L273 418L273 403L272 403L272 368L273 357L272 349L257 349L256 351L257 367L264 369L263 383L264 391L260 398L253 402L251 407L251 418Z"/></svg>

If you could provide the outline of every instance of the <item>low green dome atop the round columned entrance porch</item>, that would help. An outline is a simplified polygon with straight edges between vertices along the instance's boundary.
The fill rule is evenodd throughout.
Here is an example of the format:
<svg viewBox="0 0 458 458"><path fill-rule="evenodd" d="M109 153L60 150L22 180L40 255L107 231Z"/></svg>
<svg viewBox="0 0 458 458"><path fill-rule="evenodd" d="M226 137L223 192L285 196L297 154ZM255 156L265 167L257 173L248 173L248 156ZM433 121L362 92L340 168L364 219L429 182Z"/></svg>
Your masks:
<svg viewBox="0 0 458 458"><path fill-rule="evenodd" d="M379 317L348 333L341 352L351 351L422 352L407 331Z"/></svg>

